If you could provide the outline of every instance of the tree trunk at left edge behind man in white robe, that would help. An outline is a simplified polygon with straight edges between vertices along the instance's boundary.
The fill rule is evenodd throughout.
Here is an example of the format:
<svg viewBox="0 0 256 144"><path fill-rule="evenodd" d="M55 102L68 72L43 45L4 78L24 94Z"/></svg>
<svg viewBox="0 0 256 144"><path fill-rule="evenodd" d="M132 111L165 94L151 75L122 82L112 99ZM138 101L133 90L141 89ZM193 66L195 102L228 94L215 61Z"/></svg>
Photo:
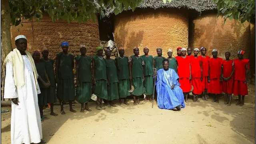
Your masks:
<svg viewBox="0 0 256 144"><path fill-rule="evenodd" d="M9 0L1 0L1 37L2 49L5 56L12 51L12 41L10 33L11 16Z"/></svg>

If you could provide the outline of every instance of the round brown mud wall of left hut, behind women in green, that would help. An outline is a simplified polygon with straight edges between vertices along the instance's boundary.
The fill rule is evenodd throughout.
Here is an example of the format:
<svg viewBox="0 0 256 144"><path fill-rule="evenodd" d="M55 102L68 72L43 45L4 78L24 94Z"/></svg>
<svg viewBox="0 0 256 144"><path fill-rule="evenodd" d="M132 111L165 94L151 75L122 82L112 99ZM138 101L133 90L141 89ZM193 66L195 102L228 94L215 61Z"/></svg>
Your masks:
<svg viewBox="0 0 256 144"><path fill-rule="evenodd" d="M88 55L95 54L95 48L100 44L98 20L95 23L89 21L85 24L78 24L66 21L52 22L52 19L44 15L41 22L24 22L22 26L11 26L12 47L15 48L14 38L20 34L28 39L28 51L49 50L50 58L56 57L61 52L60 44L68 41L69 52L74 56L80 55L80 45L87 47ZM20 31L18 31L18 28Z"/></svg>

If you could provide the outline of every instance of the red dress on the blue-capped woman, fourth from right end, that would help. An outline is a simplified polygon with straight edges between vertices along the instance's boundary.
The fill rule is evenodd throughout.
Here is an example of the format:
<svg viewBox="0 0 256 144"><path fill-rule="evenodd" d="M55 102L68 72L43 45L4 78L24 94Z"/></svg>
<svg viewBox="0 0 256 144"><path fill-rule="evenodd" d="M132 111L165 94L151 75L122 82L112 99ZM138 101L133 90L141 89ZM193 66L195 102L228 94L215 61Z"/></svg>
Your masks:
<svg viewBox="0 0 256 144"><path fill-rule="evenodd" d="M202 80L202 91L208 89L209 87L209 82L208 82L208 74L209 74L209 56L198 56L202 59L202 69L203 69L203 80Z"/></svg>

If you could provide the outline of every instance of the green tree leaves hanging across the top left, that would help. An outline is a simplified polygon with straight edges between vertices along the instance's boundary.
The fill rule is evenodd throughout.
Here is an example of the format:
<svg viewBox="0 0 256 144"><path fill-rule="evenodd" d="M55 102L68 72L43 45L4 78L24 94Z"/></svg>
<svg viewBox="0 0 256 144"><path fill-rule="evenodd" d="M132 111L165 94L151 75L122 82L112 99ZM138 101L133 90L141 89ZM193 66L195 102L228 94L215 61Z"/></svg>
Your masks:
<svg viewBox="0 0 256 144"><path fill-rule="evenodd" d="M88 20L96 20L96 13L104 17L104 8L115 7L115 14L129 7L134 10L143 0L9 0L11 22L15 26L23 19L37 21L42 13L47 12L52 21L67 20L70 23L76 20L79 24Z"/></svg>

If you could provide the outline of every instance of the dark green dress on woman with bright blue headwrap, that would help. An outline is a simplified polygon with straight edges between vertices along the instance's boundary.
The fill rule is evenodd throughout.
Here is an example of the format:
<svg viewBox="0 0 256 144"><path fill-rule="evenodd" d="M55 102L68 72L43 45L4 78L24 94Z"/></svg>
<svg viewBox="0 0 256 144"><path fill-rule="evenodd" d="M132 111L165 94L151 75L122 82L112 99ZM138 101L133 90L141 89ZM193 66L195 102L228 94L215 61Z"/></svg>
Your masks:
<svg viewBox="0 0 256 144"><path fill-rule="evenodd" d="M59 60L59 83L57 85L57 97L60 101L68 102L75 99L74 87L74 56L72 54L58 53Z"/></svg>

